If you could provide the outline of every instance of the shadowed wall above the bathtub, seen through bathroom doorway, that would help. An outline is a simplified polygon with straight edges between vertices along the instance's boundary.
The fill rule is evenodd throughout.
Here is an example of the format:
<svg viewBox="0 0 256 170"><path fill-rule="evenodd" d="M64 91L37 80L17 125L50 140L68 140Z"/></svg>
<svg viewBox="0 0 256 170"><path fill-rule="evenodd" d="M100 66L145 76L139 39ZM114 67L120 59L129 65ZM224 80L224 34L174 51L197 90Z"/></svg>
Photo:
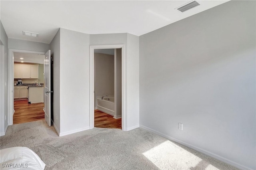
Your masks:
<svg viewBox="0 0 256 170"><path fill-rule="evenodd" d="M98 96L114 96L114 55L94 53L94 107Z"/></svg>

